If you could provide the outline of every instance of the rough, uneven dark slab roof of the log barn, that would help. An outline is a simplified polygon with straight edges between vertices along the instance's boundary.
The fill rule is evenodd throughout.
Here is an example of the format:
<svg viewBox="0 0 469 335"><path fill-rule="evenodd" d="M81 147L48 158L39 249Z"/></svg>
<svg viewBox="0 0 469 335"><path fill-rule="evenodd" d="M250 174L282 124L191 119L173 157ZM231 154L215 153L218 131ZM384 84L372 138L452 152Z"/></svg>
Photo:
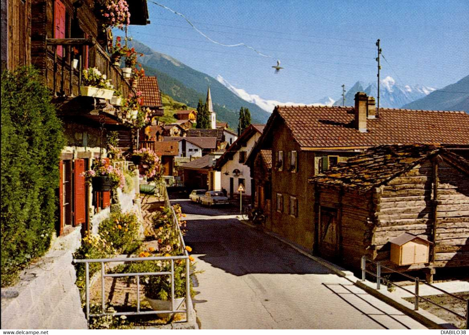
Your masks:
<svg viewBox="0 0 469 335"><path fill-rule="evenodd" d="M359 188L366 191L382 185L397 175L411 169L434 154L445 156L469 171L469 161L446 149L425 144L382 145L367 149L363 154L348 159L309 179L310 182Z"/></svg>

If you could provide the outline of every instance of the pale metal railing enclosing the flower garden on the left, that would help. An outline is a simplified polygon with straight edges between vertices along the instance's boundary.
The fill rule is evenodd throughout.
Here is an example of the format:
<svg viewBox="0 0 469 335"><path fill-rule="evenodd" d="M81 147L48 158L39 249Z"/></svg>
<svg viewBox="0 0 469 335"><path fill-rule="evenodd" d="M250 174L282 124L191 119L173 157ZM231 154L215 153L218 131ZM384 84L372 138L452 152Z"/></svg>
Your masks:
<svg viewBox="0 0 469 335"><path fill-rule="evenodd" d="M116 257L116 258L98 258L98 259L74 259L74 263L85 263L85 299L86 299L86 319L90 320L90 317L103 316L103 315L146 315L146 314L167 314L167 313L186 313L186 321L189 321L189 304L190 300L190 271L189 271L189 253L186 250L184 239L182 238L182 231L179 227L178 218L174 212L174 208L169 202L169 197L165 188L165 205L171 208L171 214L173 219L174 229L178 233L179 246L182 249L183 255L181 256L154 256L154 257ZM180 306L175 308L174 306L174 261L185 260L185 276L186 276L186 296L185 303L186 309L179 309ZM112 273L106 274L105 263L111 262L136 262L136 261L170 261L171 271L161 272L135 272L135 273ZM101 263L101 313L90 313L90 263ZM140 311L140 276L150 275L169 275L171 278L171 310L163 311ZM106 277L136 277L137 284L137 306L136 312L117 312L117 313L106 313L106 299L105 299L105 278Z"/></svg>

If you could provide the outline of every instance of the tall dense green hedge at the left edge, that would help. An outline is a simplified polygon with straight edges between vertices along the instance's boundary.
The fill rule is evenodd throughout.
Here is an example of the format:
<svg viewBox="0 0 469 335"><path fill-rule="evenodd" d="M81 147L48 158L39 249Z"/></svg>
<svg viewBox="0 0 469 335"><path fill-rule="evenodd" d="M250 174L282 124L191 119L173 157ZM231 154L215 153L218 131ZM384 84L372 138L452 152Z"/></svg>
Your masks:
<svg viewBox="0 0 469 335"><path fill-rule="evenodd" d="M57 220L61 121L38 72L1 75L1 286L50 246Z"/></svg>

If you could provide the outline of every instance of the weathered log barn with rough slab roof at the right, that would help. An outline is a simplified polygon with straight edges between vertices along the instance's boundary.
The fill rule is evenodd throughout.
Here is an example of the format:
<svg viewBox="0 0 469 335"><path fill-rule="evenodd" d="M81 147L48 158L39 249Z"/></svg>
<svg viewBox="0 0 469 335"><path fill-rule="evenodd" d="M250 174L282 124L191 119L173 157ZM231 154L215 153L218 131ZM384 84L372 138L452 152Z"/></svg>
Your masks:
<svg viewBox="0 0 469 335"><path fill-rule="evenodd" d="M350 268L469 266L469 161L428 145L368 149L309 180L315 246Z"/></svg>

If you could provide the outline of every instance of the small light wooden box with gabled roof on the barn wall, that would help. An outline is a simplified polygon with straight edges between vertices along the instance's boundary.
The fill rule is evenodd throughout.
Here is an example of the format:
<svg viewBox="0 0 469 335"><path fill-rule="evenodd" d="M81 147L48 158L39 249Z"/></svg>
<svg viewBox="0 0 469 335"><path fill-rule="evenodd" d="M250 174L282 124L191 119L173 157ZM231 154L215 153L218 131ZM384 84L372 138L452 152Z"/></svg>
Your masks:
<svg viewBox="0 0 469 335"><path fill-rule="evenodd" d="M413 234L403 233L389 242L393 263L397 265L428 263L430 241Z"/></svg>

